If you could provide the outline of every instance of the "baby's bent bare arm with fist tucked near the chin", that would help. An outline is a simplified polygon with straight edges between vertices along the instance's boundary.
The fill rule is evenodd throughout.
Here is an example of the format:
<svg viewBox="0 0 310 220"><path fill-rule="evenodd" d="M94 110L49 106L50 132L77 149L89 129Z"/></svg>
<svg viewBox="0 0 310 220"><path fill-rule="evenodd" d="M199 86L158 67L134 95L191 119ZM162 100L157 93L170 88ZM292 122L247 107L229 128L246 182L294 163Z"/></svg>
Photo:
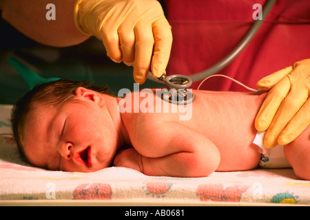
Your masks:
<svg viewBox="0 0 310 220"><path fill-rule="evenodd" d="M149 131L137 129L132 142L134 149L119 153L114 164L146 175L202 177L220 163L218 148L207 137L178 123L153 122Z"/></svg>

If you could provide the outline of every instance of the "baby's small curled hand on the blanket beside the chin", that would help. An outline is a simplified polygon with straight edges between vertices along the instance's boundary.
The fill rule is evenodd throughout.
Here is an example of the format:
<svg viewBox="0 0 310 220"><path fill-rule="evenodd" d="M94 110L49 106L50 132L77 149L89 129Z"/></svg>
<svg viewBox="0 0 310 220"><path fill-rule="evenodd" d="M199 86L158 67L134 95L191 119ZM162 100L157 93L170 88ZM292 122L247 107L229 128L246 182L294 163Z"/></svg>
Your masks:
<svg viewBox="0 0 310 220"><path fill-rule="evenodd" d="M114 165L143 172L141 155L134 148L129 148L118 153L114 158Z"/></svg>

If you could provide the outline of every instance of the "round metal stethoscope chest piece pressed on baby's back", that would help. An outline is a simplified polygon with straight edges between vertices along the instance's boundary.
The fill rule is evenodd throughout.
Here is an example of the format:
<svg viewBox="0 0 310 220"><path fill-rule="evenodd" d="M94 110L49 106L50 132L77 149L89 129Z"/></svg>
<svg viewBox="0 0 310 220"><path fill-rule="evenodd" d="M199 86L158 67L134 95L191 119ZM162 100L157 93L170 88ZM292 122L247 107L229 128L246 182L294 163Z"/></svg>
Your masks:
<svg viewBox="0 0 310 220"><path fill-rule="evenodd" d="M189 91L192 79L184 75L161 76L165 85L170 89L163 89L161 98L173 104L189 104L194 101L194 94Z"/></svg>

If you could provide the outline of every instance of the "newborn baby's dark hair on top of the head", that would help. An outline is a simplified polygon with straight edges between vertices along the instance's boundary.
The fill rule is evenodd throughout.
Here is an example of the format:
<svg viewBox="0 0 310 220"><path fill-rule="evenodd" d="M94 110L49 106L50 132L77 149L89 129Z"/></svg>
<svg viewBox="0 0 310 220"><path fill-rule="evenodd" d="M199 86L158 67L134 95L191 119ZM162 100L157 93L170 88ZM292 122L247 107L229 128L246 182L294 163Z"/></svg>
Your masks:
<svg viewBox="0 0 310 220"><path fill-rule="evenodd" d="M10 121L12 124L12 133L21 153L23 153L21 133L28 114L38 108L38 104L40 106L56 107L58 104L74 99L75 91L79 87L91 89L101 94L112 95L107 90L107 86L99 87L87 81L60 79L35 86L14 104Z"/></svg>

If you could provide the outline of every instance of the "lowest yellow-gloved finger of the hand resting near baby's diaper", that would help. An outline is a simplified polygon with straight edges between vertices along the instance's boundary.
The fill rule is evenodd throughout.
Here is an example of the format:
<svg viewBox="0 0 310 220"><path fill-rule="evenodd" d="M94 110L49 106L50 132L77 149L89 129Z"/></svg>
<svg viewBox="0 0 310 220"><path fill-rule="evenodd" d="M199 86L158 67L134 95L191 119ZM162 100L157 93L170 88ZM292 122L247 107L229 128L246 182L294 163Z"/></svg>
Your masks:
<svg viewBox="0 0 310 220"><path fill-rule="evenodd" d="M289 124L280 133L278 143L287 145L302 133L310 124L310 100L301 107L296 115L289 121Z"/></svg>

